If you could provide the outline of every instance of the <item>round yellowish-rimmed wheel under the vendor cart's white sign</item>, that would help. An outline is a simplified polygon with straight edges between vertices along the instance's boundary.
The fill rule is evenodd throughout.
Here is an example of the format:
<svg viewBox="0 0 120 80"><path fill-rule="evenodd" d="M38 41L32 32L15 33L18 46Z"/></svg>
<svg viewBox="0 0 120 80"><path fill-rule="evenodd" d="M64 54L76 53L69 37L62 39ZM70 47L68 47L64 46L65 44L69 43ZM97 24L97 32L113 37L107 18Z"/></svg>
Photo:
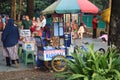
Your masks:
<svg viewBox="0 0 120 80"><path fill-rule="evenodd" d="M66 69L66 61L65 61L65 57L64 56L61 56L61 55L57 55L55 56L52 61L51 61L51 66L52 66L52 69L55 71L55 72L62 72Z"/></svg>

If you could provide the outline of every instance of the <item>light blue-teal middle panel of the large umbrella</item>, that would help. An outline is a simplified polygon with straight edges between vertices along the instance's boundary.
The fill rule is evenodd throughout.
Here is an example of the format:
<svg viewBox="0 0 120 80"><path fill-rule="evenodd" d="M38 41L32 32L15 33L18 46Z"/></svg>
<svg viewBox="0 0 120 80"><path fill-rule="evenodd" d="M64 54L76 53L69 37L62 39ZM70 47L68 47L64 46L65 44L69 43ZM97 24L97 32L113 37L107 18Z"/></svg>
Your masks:
<svg viewBox="0 0 120 80"><path fill-rule="evenodd" d="M61 0L55 11L58 14L79 13L80 7L76 0Z"/></svg>

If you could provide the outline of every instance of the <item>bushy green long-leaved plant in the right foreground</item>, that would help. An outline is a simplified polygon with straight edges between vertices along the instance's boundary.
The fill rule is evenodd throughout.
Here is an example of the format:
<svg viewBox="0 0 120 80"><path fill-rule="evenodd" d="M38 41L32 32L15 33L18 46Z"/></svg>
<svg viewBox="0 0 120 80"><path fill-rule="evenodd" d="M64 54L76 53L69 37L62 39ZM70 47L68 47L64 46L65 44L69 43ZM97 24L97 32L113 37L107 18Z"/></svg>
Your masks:
<svg viewBox="0 0 120 80"><path fill-rule="evenodd" d="M94 51L94 45L88 52L78 48L72 53L74 60L68 60L68 70L55 74L65 80L120 80L120 55L110 48L104 54Z"/></svg>

